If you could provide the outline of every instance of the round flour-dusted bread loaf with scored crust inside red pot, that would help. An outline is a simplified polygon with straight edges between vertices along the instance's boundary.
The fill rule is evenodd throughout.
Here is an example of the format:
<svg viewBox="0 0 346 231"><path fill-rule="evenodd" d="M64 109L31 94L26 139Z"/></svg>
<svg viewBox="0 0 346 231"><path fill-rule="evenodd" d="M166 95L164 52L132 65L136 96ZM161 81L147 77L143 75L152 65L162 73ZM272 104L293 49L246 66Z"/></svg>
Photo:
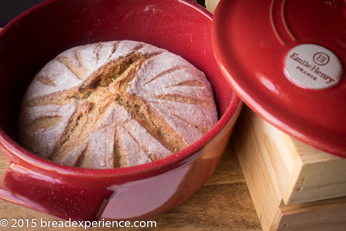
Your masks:
<svg viewBox="0 0 346 231"><path fill-rule="evenodd" d="M22 100L19 143L57 163L127 167L169 156L217 123L204 74L134 41L77 46L35 76Z"/></svg>

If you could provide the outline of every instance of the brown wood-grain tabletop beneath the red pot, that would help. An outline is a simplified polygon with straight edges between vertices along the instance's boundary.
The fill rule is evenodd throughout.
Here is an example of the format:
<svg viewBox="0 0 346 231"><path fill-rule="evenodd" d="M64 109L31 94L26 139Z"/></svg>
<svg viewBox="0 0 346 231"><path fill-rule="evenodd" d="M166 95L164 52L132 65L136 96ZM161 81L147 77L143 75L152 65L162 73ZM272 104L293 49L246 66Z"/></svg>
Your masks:
<svg viewBox="0 0 346 231"><path fill-rule="evenodd" d="M1 30L1 28L0 28ZM8 169L7 160L0 152L0 176ZM0 226L2 230L47 230L41 228L38 221L60 221L43 213L0 200L0 220L6 219L8 225ZM36 219L35 228L11 228L12 219ZM192 197L171 211L148 219L155 221L159 230L234 230L260 231L259 219L251 200L242 170L229 141L223 157L215 172ZM30 225L29 225L30 226ZM48 228L49 230L84 230L84 228ZM93 228L93 231L114 230L116 228ZM124 228L131 230L134 228ZM154 229L154 228L152 228ZM150 228L136 228L136 230L152 230Z"/></svg>

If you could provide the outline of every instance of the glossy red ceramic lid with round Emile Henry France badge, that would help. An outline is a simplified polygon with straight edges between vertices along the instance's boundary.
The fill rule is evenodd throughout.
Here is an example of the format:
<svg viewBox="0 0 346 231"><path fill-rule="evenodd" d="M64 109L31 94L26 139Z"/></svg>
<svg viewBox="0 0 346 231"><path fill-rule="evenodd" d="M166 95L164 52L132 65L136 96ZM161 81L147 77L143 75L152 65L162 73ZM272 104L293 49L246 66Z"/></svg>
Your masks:
<svg viewBox="0 0 346 231"><path fill-rule="evenodd" d="M343 0L221 0L212 41L224 76L256 113L346 158Z"/></svg>

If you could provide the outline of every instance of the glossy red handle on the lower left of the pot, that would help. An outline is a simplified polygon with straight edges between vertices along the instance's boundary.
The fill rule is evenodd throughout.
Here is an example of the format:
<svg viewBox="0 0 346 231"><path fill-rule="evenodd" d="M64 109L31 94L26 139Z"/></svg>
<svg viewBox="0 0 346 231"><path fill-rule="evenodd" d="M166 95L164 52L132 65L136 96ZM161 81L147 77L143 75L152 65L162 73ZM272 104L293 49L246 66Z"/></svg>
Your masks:
<svg viewBox="0 0 346 231"><path fill-rule="evenodd" d="M70 183L10 163L0 179L0 198L72 221L94 221L112 192Z"/></svg>

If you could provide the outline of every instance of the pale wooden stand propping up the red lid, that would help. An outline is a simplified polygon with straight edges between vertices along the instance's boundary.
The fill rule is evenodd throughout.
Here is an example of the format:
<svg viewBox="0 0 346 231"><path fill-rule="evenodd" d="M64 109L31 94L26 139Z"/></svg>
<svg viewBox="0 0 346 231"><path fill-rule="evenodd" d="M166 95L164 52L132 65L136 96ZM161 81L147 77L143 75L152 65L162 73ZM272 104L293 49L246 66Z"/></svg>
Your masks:
<svg viewBox="0 0 346 231"><path fill-rule="evenodd" d="M289 137L246 105L232 141L264 231L346 229L346 159Z"/></svg>

